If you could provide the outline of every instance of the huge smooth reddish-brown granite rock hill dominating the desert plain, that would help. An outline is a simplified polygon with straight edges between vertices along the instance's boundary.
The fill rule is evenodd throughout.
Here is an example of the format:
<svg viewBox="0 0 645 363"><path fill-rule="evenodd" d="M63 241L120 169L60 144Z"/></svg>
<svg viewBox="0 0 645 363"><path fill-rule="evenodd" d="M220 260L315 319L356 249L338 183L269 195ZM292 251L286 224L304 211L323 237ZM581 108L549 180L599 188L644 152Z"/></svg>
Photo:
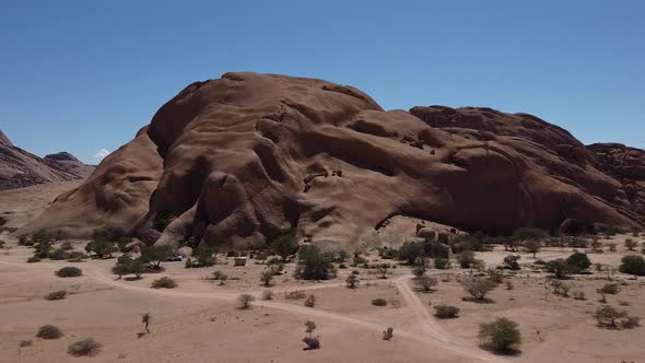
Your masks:
<svg viewBox="0 0 645 363"><path fill-rule="evenodd" d="M497 232L643 227L642 191L629 187L643 178L628 172L640 168L611 150L525 114L385 112L351 86L226 73L181 91L25 232L108 227L153 243L160 213L177 216L161 241L226 245L296 226L352 246L395 215Z"/></svg>

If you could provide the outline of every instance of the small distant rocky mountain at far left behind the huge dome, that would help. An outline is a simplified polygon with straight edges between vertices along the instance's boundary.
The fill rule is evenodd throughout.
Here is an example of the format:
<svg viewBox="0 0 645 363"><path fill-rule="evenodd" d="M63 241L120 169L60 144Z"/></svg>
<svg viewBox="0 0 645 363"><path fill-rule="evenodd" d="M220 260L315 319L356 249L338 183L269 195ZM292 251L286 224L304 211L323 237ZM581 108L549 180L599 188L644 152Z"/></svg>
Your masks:
<svg viewBox="0 0 645 363"><path fill-rule="evenodd" d="M15 145L0 130L0 190L86 178L94 166L61 152L38 157Z"/></svg>

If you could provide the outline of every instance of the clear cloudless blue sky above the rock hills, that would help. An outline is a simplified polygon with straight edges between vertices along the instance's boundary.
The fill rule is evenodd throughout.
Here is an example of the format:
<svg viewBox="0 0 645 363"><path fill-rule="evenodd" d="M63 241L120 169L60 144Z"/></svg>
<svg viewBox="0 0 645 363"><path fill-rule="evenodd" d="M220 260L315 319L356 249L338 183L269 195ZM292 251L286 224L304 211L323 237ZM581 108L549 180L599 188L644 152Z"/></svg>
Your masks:
<svg viewBox="0 0 645 363"><path fill-rule="evenodd" d="M196 80L327 79L384 108L526 112L645 148L645 1L0 0L0 129L114 151Z"/></svg>

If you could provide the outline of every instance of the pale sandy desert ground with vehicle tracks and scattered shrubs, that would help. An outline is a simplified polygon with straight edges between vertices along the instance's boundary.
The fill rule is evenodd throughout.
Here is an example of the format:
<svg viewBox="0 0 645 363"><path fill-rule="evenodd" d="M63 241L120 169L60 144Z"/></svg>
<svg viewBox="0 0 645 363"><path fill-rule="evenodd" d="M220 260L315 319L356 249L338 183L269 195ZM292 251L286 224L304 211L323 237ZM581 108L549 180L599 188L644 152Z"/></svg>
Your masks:
<svg viewBox="0 0 645 363"><path fill-rule="evenodd" d="M7 196L0 195L0 200L11 200ZM31 207L22 209L23 221L47 203L46 197L30 200ZM21 210L19 199L2 206ZM607 278L621 284L619 294L607 295L607 304L645 317L645 280L612 271L629 253L622 246L626 237L613 238L618 244L615 253L605 248L603 254L589 254L593 262L609 267L606 271L567 281L573 290L585 292L584 301L550 293L546 289L547 274L532 271L536 259L521 253L525 268L506 278L514 289L502 284L490 294L492 303L478 304L462 300L466 293L458 280L470 271L457 268L430 269L427 273L438 280L432 293L417 291L406 266L390 269L387 279L378 279L373 270L349 268L339 269L339 276L329 281L303 282L293 279L294 265L289 264L285 273L265 288L259 281L263 265L251 260L248 266L235 267L232 259L222 256L213 267L185 269L183 262L165 262L161 273L127 281L110 273L115 259L26 264L33 250L17 246L3 233L0 362L642 362L645 328L609 330L598 327L591 317L603 305L596 290L608 283ZM77 249L85 244L74 243ZM562 258L572 251L546 248L537 258ZM477 254L477 258L494 267L508 254L497 247L492 253ZM380 261L374 253L368 259ZM81 268L83 277L61 279L54 274L70 265ZM207 279L216 270L228 276L225 284ZM353 270L360 272L361 279L355 290L344 285ZM175 279L178 286L150 288L152 281L164 276ZM67 290L70 295L61 301L44 298L56 290ZM274 293L273 300L260 298L266 290ZM285 297L295 290L314 294L315 307L304 306L304 300ZM256 296L250 309L237 308L236 298L242 293ZM372 305L379 297L388 305ZM438 304L459 307L459 318L436 319L433 306ZM152 314L151 333L139 338L144 313ZM519 354L500 356L479 347L479 324L496 317L509 317L519 324ZM303 350L306 320L318 327L320 350ZM38 327L46 324L60 327L64 336L58 340L36 338ZM395 328L395 337L384 341L383 330L388 326ZM102 343L96 356L77 359L67 354L71 342L86 337ZM19 347L20 341L28 339L33 340L32 347Z"/></svg>

